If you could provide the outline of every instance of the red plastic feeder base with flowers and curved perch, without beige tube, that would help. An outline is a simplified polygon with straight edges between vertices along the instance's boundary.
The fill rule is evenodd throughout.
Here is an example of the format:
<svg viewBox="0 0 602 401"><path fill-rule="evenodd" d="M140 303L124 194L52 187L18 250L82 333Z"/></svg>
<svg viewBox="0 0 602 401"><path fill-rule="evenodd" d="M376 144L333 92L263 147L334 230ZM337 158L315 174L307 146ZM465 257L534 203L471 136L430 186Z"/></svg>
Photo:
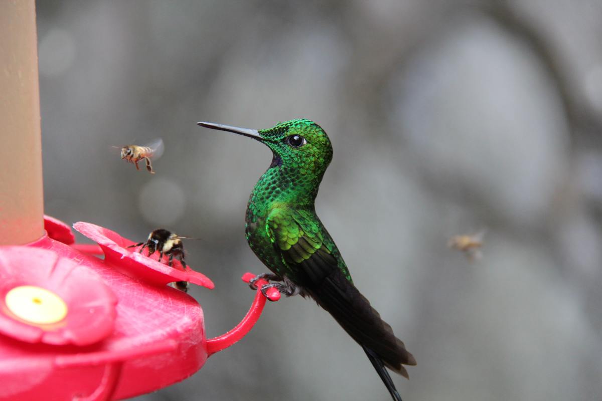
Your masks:
<svg viewBox="0 0 602 401"><path fill-rule="evenodd" d="M206 338L200 305L167 286L212 289L205 275L131 251L132 240L98 225L74 225L98 243L84 249L68 225L46 216L45 227L28 245L0 246L2 400L118 400L158 390L243 338L264 308L258 290L235 328ZM91 255L99 251L104 260Z"/></svg>

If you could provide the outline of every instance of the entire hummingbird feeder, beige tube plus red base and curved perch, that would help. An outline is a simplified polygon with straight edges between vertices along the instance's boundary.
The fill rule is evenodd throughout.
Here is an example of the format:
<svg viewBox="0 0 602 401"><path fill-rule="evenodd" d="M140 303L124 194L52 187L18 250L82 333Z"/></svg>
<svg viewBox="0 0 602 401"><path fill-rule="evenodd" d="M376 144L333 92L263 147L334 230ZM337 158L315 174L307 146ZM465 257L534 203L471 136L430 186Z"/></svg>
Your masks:
<svg viewBox="0 0 602 401"><path fill-rule="evenodd" d="M0 118L12 132L0 149L0 400L119 400L188 378L280 293L257 290L235 328L206 338L200 305L167 286L212 289L205 275L90 223L73 227L98 245L75 243L69 225L43 216L34 2L0 2L0 15L0 48L10 53L0 60Z"/></svg>

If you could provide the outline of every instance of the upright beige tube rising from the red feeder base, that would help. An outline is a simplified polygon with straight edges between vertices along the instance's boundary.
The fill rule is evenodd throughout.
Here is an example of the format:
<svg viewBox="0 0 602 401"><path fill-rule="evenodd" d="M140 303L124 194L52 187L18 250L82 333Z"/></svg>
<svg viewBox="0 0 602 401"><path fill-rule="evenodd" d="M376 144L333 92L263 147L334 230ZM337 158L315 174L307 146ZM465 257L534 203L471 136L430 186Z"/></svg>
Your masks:
<svg viewBox="0 0 602 401"><path fill-rule="evenodd" d="M34 0L0 0L0 245L44 233Z"/></svg>

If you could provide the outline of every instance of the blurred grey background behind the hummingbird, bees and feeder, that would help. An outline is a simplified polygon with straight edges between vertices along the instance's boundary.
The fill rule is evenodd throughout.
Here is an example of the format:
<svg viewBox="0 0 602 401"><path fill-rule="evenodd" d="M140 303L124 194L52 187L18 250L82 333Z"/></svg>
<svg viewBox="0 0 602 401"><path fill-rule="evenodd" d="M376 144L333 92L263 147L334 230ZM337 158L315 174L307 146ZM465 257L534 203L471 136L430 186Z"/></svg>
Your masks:
<svg viewBox="0 0 602 401"><path fill-rule="evenodd" d="M334 161L317 211L359 289L418 361L404 400L602 397L602 4L40 1L46 213L188 262L209 337L266 269L244 239L270 164L250 128L310 118ZM162 137L157 174L112 145ZM486 228L483 257L446 247ZM315 302L266 307L192 378L137 400L388 400Z"/></svg>

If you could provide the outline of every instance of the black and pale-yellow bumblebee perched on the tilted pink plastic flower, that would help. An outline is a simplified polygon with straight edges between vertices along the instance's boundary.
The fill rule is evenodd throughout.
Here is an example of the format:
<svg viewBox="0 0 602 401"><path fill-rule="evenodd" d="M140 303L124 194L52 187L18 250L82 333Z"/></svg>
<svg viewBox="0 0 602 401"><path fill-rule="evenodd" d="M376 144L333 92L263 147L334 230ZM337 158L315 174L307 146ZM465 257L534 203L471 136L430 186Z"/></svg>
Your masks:
<svg viewBox="0 0 602 401"><path fill-rule="evenodd" d="M173 266L173 258L177 257L182 263L182 268L186 269L186 262L184 262L184 244L182 239L199 239L194 237L182 237L176 233L166 230L165 228L157 228L152 231L145 242L138 242L134 245L129 245L128 248L135 248L136 246L142 245L139 253L147 248L148 256L151 256L156 251L159 251L159 261L163 260L163 255L169 256L167 265ZM188 292L187 281L176 281L175 288Z"/></svg>

